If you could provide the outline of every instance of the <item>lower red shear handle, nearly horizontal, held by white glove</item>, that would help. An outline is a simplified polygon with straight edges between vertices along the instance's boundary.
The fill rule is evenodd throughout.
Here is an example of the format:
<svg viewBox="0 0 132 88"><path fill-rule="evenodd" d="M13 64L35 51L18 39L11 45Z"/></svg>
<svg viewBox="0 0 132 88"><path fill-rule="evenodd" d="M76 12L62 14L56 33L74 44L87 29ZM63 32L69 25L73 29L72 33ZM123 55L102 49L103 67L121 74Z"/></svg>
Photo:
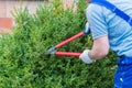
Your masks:
<svg viewBox="0 0 132 88"><path fill-rule="evenodd" d="M57 56L74 56L79 57L81 53L70 53L70 52L56 52L55 55Z"/></svg>

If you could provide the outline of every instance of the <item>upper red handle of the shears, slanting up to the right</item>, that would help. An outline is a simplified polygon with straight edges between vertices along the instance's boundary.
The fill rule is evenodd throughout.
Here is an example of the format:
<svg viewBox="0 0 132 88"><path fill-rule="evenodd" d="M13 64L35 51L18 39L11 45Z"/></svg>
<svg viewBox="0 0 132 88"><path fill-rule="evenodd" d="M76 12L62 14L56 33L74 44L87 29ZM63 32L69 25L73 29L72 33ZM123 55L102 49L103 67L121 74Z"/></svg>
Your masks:
<svg viewBox="0 0 132 88"><path fill-rule="evenodd" d="M78 34L76 34L76 35L74 35L74 36L72 36L72 37L69 37L68 40L65 40L64 42L57 44L55 47L58 48L58 47L61 47L61 46L63 46L63 45L65 45L65 44L72 42L73 40L75 40L75 38L77 38L77 37L79 37L79 36L82 36L82 35L85 35L85 33L84 33L84 32L80 32L80 33L78 33Z"/></svg>

